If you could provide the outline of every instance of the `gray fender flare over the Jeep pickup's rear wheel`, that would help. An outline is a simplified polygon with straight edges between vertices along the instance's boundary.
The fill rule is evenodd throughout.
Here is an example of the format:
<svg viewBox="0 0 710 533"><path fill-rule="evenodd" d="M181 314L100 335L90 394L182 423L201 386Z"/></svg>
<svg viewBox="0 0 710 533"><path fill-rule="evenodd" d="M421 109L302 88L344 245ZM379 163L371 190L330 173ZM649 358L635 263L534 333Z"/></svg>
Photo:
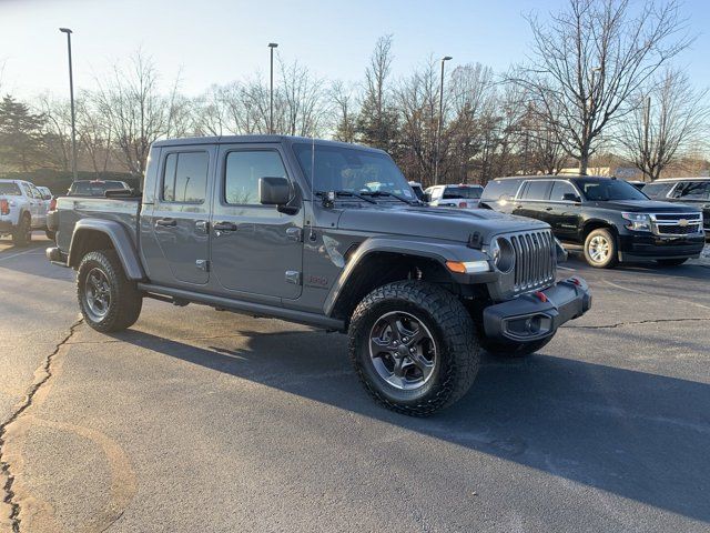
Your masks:
<svg viewBox="0 0 710 533"><path fill-rule="evenodd" d="M82 233L88 231L98 231L105 234L113 244L113 249L119 255L123 272L129 280L143 280L145 279L145 271L135 250L135 245L131 235L125 228L114 220L102 219L81 219L74 225L74 231L71 235L71 244L69 245L69 258L67 264L69 266L78 266L81 258L81 245L78 243L81 240Z"/></svg>

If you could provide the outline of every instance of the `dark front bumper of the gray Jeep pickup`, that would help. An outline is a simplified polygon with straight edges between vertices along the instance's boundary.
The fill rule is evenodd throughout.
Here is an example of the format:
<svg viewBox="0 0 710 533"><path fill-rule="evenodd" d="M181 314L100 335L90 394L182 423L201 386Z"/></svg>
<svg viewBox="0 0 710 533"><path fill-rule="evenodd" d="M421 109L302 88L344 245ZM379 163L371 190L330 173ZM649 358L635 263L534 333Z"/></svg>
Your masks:
<svg viewBox="0 0 710 533"><path fill-rule="evenodd" d="M591 292L585 280L569 278L544 291L486 308L484 332L489 340L532 342L555 334L590 308Z"/></svg>

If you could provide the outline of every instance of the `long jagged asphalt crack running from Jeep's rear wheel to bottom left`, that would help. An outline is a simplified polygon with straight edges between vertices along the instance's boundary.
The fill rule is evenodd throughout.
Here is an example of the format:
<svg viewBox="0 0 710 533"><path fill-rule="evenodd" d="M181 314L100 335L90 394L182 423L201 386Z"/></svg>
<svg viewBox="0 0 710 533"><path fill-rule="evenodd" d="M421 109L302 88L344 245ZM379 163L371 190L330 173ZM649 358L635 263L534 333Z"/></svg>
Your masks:
<svg viewBox="0 0 710 533"><path fill-rule="evenodd" d="M0 424L0 474L4 477L4 483L2 484L2 492L4 496L2 501L10 506L10 523L12 524L12 533L20 533L20 504L14 501L14 492L12 491L12 484L14 483L14 475L11 473L10 463L3 460L3 451L4 451L4 435L8 432L8 428L12 425L22 414L32 406L32 401L34 400L34 395L37 391L39 391L42 385L44 385L50 378L52 376L52 361L54 356L59 353L61 348L67 344L67 342L72 338L77 328L83 322L82 319L79 319L77 322L69 326L69 333L62 339L55 346L52 352L44 358L44 362L34 371L36 379L24 394L24 399L16 405L14 411L10 415L8 420L6 420L2 424ZM41 373L41 378L37 378L38 372Z"/></svg>

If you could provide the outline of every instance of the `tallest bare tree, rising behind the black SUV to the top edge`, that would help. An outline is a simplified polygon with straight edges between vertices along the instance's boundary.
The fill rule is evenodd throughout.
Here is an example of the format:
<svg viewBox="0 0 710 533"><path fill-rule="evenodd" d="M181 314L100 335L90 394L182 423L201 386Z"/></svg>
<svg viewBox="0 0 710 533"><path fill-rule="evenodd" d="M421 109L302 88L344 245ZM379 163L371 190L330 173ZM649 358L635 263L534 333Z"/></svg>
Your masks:
<svg viewBox="0 0 710 533"><path fill-rule="evenodd" d="M631 97L692 41L676 0L648 0L638 11L629 0L568 0L549 21L528 21L531 57L513 80L549 111L557 141L582 174L604 129L630 112Z"/></svg>

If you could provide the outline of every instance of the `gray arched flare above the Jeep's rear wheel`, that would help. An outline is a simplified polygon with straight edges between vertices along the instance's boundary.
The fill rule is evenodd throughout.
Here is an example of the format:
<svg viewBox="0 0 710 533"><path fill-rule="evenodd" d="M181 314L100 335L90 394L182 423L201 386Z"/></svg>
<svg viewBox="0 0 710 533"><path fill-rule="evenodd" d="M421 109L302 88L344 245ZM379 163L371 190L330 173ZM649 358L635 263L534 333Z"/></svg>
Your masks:
<svg viewBox="0 0 710 533"><path fill-rule="evenodd" d="M71 237L67 264L75 269L87 253L106 249L116 252L129 280L145 278L131 237L119 222L111 220L83 219L77 222Z"/></svg>

